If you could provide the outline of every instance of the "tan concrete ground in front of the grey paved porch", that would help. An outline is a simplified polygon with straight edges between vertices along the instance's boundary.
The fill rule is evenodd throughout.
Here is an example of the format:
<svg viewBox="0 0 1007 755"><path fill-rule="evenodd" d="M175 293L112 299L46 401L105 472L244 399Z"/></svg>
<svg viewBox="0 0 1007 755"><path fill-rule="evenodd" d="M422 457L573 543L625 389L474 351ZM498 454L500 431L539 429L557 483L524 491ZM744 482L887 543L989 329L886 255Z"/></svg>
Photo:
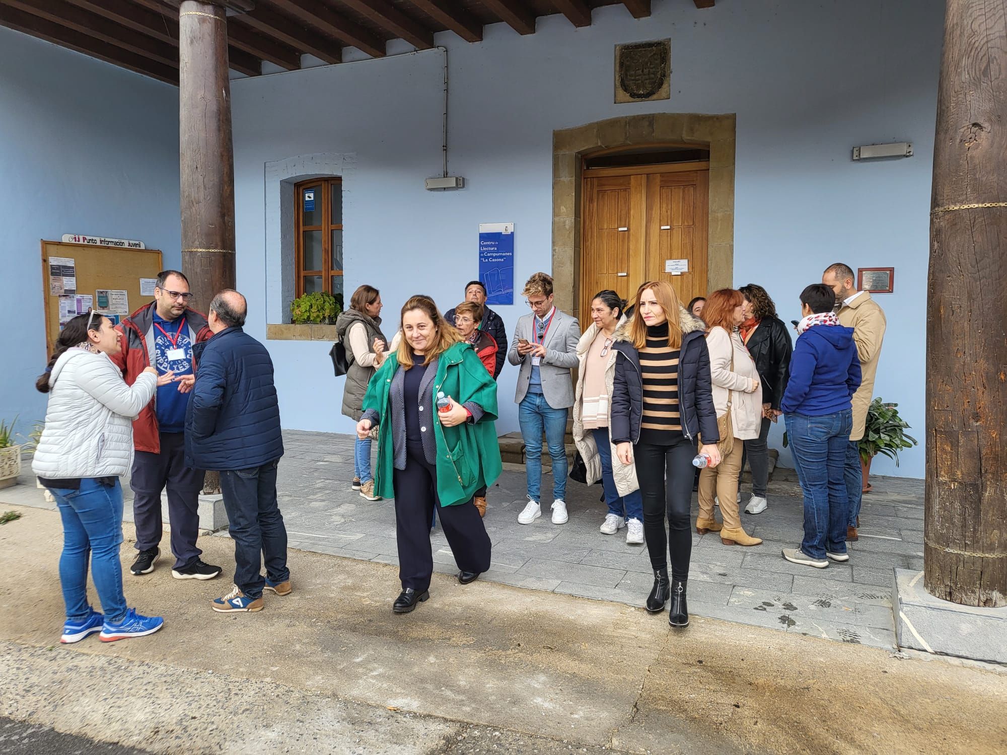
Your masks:
<svg viewBox="0 0 1007 755"><path fill-rule="evenodd" d="M673 632L620 603L439 574L397 616L395 568L356 559L291 551L292 595L215 614L223 538L200 545L224 579L126 578L161 632L60 646L58 516L17 510L0 526L0 569L17 575L0 584L0 716L61 732L185 753L976 755L1007 741L1007 675L701 617Z"/></svg>

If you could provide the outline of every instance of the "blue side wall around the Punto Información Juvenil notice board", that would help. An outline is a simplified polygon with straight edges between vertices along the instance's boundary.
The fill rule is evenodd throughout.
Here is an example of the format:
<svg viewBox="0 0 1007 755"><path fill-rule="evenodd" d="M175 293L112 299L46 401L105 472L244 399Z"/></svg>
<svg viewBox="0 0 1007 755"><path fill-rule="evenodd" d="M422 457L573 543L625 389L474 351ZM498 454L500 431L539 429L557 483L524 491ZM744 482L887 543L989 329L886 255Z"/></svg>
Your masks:
<svg viewBox="0 0 1007 755"><path fill-rule="evenodd" d="M39 240L138 239L180 265L178 91L0 28L0 418L27 432L45 414Z"/></svg>

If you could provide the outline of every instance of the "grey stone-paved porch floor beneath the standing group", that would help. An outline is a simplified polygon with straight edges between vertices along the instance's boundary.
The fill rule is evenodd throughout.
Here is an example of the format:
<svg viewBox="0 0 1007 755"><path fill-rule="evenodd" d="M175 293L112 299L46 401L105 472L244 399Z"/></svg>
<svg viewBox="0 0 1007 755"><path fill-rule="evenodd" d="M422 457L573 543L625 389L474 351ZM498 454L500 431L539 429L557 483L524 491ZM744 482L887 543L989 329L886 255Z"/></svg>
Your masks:
<svg viewBox="0 0 1007 755"><path fill-rule="evenodd" d="M290 547L397 564L392 501L371 502L349 489L352 438L285 431L280 465L280 506ZM518 587L642 606L653 584L644 546L627 546L625 531L604 536L600 486L570 481L570 520L543 516L517 521L524 507L524 467L511 466L487 495L484 519L492 541L492 566L481 579ZM689 607L693 614L772 627L843 642L895 645L891 610L892 570L922 569L922 480L872 477L864 496L861 539L850 544L848 564L812 569L780 558L801 541L802 499L793 470L779 469L769 484L769 507L742 514L746 531L762 538L754 548L724 546L716 535L693 535ZM549 475L544 491L552 490ZM750 488L742 487L742 501ZM693 496L693 518L698 506ZM434 568L457 567L440 528L431 535ZM389 585L389 600L398 586ZM655 621L662 620L655 617Z"/></svg>

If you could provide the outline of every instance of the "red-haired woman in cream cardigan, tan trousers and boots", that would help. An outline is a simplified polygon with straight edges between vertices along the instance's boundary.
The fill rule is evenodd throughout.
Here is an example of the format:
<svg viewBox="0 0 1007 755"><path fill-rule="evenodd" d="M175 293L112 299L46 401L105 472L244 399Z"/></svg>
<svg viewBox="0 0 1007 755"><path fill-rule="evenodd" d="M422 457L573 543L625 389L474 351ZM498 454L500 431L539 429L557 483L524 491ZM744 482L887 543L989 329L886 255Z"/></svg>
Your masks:
<svg viewBox="0 0 1007 755"><path fill-rule="evenodd" d="M740 291L725 288L710 294L703 308L713 403L718 420L730 412L734 439L730 452L723 455L720 464L700 473L696 532L700 535L719 532L725 546L757 546L762 542L745 533L738 511L738 473L744 441L758 438L762 422L758 370L738 334L738 325L745 319L743 305ZM720 499L723 527L713 517L714 496Z"/></svg>

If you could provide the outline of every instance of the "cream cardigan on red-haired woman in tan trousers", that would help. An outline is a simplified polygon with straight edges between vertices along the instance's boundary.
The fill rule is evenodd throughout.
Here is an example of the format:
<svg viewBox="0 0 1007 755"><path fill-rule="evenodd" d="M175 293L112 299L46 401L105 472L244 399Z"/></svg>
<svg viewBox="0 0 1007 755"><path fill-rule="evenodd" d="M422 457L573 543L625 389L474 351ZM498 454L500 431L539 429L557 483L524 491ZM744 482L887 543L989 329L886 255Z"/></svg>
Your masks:
<svg viewBox="0 0 1007 755"><path fill-rule="evenodd" d="M734 369L731 370L731 350L734 351ZM710 382L713 384L713 404L717 417L727 412L728 396L731 400L731 425L734 437L739 440L758 438L762 425L762 387L758 385L755 361L738 333L730 333L717 326L706 336L710 352Z"/></svg>

